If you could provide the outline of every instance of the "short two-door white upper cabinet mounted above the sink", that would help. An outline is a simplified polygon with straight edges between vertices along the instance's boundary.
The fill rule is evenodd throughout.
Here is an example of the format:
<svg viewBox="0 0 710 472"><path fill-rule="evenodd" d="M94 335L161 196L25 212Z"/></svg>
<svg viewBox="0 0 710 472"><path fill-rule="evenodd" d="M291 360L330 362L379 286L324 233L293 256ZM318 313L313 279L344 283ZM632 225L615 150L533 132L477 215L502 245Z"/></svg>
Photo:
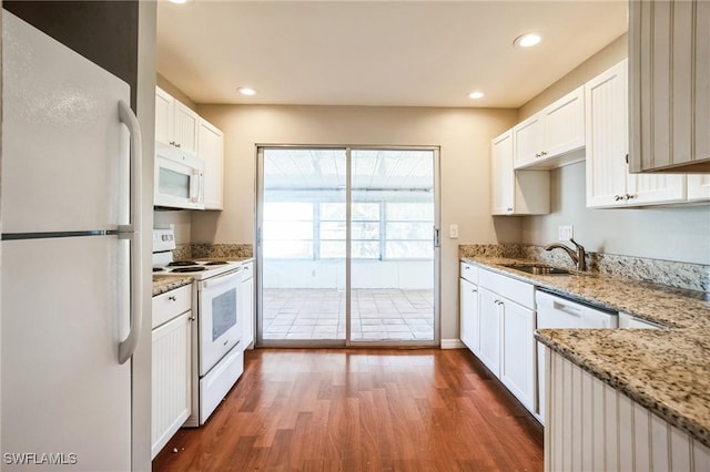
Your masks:
<svg viewBox="0 0 710 472"><path fill-rule="evenodd" d="M584 160L585 88L580 86L514 129L515 168L555 168Z"/></svg>

